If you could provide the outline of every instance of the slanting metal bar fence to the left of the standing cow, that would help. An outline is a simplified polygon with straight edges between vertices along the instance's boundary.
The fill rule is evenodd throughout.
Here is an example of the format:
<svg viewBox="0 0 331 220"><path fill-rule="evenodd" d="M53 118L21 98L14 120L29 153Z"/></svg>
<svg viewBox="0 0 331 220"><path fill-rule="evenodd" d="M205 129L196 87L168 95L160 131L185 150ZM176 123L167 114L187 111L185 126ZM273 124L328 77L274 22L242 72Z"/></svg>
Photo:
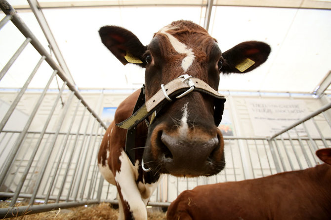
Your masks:
<svg viewBox="0 0 331 220"><path fill-rule="evenodd" d="M4 0L0 7L6 14L0 29L11 21L26 38L1 70L0 80L28 45L40 54L22 88L0 97L4 112L0 197L10 200L8 208L0 209L0 218L100 202L103 179L96 155L105 124L15 10ZM52 69L42 73L49 77L45 87L38 92L29 90L29 83L45 63ZM50 89L56 81L59 88ZM17 207L18 202L26 205ZM41 205L34 205L37 202Z"/></svg>

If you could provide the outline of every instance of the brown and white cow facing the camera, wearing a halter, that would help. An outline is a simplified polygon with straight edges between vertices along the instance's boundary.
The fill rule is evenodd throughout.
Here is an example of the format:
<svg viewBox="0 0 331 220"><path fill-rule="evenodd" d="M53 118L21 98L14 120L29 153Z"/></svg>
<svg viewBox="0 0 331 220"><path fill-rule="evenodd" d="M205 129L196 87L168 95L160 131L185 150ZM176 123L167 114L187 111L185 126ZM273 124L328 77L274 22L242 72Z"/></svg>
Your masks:
<svg viewBox="0 0 331 220"><path fill-rule="evenodd" d="M99 34L124 65L136 63L146 69L146 101L162 84L183 74L217 91L220 73L249 72L264 63L270 53L270 46L258 41L243 42L222 53L204 28L183 20L162 28L147 46L121 27L105 26ZM248 65L247 60L251 62ZM211 176L225 165L223 138L215 119L220 116L215 110L215 98L197 90L179 99L172 97L171 102L157 110L149 128L145 122L136 126L133 165L124 151L127 130L116 123L131 116L139 94L134 92L120 104L98 154L101 174L117 186L120 219L147 219L145 206L160 174Z"/></svg>

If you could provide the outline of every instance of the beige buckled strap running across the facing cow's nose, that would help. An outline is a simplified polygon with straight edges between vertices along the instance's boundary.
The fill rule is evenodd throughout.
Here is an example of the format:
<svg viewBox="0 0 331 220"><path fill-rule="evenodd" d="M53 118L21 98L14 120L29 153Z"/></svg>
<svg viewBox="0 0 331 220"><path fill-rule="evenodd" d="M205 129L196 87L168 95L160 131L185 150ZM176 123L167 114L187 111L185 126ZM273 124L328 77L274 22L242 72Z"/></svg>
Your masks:
<svg viewBox="0 0 331 220"><path fill-rule="evenodd" d="M219 99L220 103L223 104L223 109L224 109L224 102L226 99L223 95L219 94L217 91L215 91L206 82L204 82L201 79L192 77L191 80L193 81L194 86L195 86L193 91L203 92L203 93L213 96L216 99ZM188 83L182 82L182 81L183 81L183 78L176 78L164 86L165 91L170 98L173 98L190 88ZM168 102L169 101L165 98L165 95L164 95L162 89L160 89L154 96L152 96L148 101L146 101L146 103L144 105L142 105L141 108L134 111L134 113L129 118L116 124L116 126L118 126L120 128L124 128L124 129L132 129L137 124L139 124L141 121L146 119L149 115L151 115L155 110L162 108ZM215 105L215 110L216 110L216 108L218 108L217 106L221 106L221 104ZM220 115L222 115L223 109L218 110L218 111L221 111ZM220 122L219 119L217 119L217 121ZM217 121L215 118L215 123L217 123ZM218 125L218 124L216 124L216 125Z"/></svg>

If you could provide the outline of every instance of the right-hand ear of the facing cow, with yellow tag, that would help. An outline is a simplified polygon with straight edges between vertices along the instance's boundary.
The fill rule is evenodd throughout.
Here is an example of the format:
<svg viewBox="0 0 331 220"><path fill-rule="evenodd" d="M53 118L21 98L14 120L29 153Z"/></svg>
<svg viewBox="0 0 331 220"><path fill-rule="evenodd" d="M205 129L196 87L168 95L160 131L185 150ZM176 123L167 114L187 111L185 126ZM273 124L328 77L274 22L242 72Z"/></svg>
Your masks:
<svg viewBox="0 0 331 220"><path fill-rule="evenodd" d="M263 64L271 51L268 44L260 41L242 42L225 51L223 73L247 73Z"/></svg>

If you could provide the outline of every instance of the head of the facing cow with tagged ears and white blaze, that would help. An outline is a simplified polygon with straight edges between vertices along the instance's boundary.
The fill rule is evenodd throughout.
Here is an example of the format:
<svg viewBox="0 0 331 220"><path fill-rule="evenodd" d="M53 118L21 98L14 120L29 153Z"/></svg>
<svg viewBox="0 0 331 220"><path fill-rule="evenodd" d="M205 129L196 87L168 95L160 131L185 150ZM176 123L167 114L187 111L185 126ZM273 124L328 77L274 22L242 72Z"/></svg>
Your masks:
<svg viewBox="0 0 331 220"><path fill-rule="evenodd" d="M129 55L133 63L138 61L137 65L146 69L146 100L161 89L161 84L182 74L199 78L217 91L220 73L249 72L270 53L270 46L258 41L243 42L222 53L216 40L190 21L165 26L147 46L121 27L105 26L99 34L124 65L130 61ZM221 171L225 166L224 142L214 122L214 103L212 96L193 90L162 108L150 125L149 148L143 154L145 167L191 177Z"/></svg>

